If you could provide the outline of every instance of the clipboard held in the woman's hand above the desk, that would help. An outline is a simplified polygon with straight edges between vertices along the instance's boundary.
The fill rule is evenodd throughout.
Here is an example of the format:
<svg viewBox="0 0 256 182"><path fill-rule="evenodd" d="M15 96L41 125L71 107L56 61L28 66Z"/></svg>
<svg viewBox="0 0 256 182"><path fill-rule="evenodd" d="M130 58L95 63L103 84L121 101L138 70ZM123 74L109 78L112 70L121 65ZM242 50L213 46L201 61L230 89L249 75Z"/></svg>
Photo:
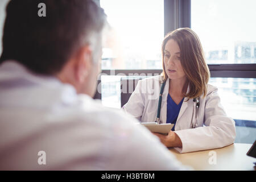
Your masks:
<svg viewBox="0 0 256 182"><path fill-rule="evenodd" d="M151 132L160 134L168 134L169 131L171 131L172 127L174 127L174 124L171 123L158 124L156 122L143 122L141 124Z"/></svg>

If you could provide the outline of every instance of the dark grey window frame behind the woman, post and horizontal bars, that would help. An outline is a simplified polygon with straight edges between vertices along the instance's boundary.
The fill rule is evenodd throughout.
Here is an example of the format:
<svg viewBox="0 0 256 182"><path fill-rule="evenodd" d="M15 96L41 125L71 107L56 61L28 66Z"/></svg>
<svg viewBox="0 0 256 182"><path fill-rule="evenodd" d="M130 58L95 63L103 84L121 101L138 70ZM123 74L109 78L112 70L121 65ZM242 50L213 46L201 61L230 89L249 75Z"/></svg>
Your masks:
<svg viewBox="0 0 256 182"><path fill-rule="evenodd" d="M100 0L95 0L100 3ZM176 28L191 28L191 0L164 0L164 35ZM256 64L208 64L211 77L256 78ZM101 75L110 75L113 70L102 69ZM162 69L115 69L114 75L160 74ZM101 76L100 75L100 76ZM100 77L99 76L99 77ZM98 85L101 78L98 79ZM98 92L100 90L100 93ZM101 85L94 98L101 99Z"/></svg>

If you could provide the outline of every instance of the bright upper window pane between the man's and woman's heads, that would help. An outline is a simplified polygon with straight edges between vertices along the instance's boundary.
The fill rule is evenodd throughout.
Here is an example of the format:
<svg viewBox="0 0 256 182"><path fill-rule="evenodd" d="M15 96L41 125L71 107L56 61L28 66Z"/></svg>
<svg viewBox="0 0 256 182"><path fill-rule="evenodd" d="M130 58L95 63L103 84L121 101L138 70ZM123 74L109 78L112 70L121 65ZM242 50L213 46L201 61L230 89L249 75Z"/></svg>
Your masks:
<svg viewBox="0 0 256 182"><path fill-rule="evenodd" d="M163 0L101 0L109 34L102 69L161 69L164 38Z"/></svg>

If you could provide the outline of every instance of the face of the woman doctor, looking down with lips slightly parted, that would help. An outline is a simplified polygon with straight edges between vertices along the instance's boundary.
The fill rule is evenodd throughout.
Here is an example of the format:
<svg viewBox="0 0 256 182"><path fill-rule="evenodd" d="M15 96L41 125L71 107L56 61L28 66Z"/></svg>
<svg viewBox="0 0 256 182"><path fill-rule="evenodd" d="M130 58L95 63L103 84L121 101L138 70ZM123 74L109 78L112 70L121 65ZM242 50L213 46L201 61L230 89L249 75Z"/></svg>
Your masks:
<svg viewBox="0 0 256 182"><path fill-rule="evenodd" d="M180 48L174 39L168 40L164 48L164 67L167 76L172 80L186 77L180 63Z"/></svg>

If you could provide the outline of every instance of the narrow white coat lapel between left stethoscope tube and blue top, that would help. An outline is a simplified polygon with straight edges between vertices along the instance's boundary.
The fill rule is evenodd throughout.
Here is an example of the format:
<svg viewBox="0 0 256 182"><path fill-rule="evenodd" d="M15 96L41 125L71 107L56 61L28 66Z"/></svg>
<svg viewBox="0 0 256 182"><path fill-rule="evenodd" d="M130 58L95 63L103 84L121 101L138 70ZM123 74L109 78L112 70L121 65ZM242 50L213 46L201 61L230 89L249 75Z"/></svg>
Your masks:
<svg viewBox="0 0 256 182"><path fill-rule="evenodd" d="M160 84L161 86L162 84ZM167 96L169 93L169 78L166 80L166 86L164 86L163 90L163 96L162 96L162 106L161 106L161 112L160 112L160 120L163 123L166 123L167 119Z"/></svg>

